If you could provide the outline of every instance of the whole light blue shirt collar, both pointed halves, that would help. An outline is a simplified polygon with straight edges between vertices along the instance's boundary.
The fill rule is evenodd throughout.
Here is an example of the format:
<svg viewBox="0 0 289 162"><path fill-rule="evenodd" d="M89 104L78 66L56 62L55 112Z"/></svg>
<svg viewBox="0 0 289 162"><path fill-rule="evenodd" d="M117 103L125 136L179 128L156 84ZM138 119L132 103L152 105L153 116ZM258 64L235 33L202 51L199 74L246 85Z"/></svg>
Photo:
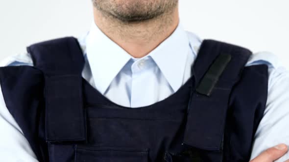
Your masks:
<svg viewBox="0 0 289 162"><path fill-rule="evenodd" d="M151 56L156 62L174 91L182 85L189 48L187 33L179 24L165 41L145 56ZM101 32L94 22L86 38L86 53L95 85L102 94L122 67L133 58Z"/></svg>

